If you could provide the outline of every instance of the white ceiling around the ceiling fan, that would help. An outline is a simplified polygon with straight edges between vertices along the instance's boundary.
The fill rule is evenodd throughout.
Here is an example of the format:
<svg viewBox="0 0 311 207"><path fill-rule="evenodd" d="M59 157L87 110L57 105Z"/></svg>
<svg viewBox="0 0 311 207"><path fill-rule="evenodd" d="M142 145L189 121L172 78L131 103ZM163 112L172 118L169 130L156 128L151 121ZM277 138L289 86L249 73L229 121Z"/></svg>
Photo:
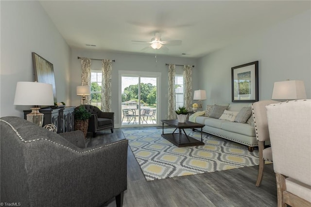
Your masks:
<svg viewBox="0 0 311 207"><path fill-rule="evenodd" d="M145 0L40 1L71 48L201 57L311 8L310 1ZM148 49L155 32L182 40ZM96 47L86 46L96 45ZM182 53L186 53L182 55Z"/></svg>

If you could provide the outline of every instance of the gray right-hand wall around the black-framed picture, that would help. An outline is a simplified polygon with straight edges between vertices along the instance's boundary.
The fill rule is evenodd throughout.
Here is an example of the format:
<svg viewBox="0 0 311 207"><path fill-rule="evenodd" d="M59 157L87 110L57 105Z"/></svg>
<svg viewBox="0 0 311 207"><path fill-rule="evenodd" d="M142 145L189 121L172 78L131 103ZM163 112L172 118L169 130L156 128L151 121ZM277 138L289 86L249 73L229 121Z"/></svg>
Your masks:
<svg viewBox="0 0 311 207"><path fill-rule="evenodd" d="M311 11L280 22L198 59L203 103L231 103L231 68L259 60L259 100L271 99L278 81L303 80L311 98Z"/></svg>

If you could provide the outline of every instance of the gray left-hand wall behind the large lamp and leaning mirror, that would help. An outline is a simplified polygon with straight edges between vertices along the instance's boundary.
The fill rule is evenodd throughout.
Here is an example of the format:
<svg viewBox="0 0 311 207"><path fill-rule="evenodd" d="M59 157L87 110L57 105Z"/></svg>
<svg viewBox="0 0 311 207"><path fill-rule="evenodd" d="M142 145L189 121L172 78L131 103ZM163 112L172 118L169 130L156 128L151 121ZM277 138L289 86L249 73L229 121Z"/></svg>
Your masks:
<svg viewBox="0 0 311 207"><path fill-rule="evenodd" d="M18 81L34 81L32 52L54 66L58 102L69 102L70 48L38 1L0 1L0 117L23 117L30 106L15 106Z"/></svg>

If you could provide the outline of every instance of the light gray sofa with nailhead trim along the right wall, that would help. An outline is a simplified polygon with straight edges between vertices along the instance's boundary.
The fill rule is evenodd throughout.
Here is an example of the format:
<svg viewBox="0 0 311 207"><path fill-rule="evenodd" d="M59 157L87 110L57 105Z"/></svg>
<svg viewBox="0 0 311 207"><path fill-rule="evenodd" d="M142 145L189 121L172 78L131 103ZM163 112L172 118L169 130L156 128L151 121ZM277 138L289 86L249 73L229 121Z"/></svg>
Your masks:
<svg viewBox="0 0 311 207"><path fill-rule="evenodd" d="M228 111L241 111L243 107L251 107L251 104L217 104L227 106ZM241 123L227 120L220 120L205 116L205 112L196 112L189 117L189 121L204 124L203 131L215 135L217 137L229 139L248 146L248 150L252 152L258 141L255 134L255 126L252 121L249 123ZM251 117L251 116L250 116ZM249 120L248 120L249 121Z"/></svg>

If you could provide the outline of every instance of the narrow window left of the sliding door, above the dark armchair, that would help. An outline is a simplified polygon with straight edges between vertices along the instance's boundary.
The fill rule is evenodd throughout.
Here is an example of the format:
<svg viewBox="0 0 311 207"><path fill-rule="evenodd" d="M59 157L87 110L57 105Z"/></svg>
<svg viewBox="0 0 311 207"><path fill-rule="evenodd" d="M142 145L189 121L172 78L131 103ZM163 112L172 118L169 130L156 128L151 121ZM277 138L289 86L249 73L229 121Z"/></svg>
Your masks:
<svg viewBox="0 0 311 207"><path fill-rule="evenodd" d="M101 108L102 71L91 71L91 104Z"/></svg>

